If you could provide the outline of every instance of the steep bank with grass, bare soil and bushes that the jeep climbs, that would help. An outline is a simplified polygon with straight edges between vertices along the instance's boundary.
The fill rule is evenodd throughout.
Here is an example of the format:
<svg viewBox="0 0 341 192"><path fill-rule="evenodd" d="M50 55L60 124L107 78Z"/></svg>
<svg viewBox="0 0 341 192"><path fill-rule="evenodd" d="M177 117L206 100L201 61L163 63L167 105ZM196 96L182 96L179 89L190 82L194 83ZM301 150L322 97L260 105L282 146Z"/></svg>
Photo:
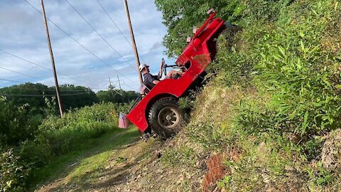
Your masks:
<svg viewBox="0 0 341 192"><path fill-rule="evenodd" d="M243 3L183 129L191 144L163 158L207 156L204 191L340 191L340 1Z"/></svg>

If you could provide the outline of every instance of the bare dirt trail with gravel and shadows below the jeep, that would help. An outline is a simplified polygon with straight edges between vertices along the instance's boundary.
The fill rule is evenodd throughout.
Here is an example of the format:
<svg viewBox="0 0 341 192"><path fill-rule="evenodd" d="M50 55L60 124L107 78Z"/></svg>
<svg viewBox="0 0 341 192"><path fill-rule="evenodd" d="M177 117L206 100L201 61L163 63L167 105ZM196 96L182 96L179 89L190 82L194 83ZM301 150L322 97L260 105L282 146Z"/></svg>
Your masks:
<svg viewBox="0 0 341 192"><path fill-rule="evenodd" d="M110 151L99 169L85 169L76 178L69 173L36 191L200 191L202 169L170 167L161 162L161 149L172 144L151 139L120 146ZM77 166L71 164L70 169Z"/></svg>

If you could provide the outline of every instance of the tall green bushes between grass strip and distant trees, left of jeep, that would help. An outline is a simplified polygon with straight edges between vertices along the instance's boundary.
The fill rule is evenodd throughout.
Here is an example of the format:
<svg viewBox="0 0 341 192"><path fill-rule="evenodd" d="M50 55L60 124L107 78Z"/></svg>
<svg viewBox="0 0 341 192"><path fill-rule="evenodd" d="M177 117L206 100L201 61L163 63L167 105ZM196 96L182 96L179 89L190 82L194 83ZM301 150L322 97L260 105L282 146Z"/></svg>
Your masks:
<svg viewBox="0 0 341 192"><path fill-rule="evenodd" d="M40 125L41 134L33 142L23 144L23 154L36 149L50 155L65 154L88 139L97 138L117 126L116 107L112 103L95 104L67 112L63 118L50 116ZM26 155L25 155L26 156ZM43 163L43 159L40 162Z"/></svg>

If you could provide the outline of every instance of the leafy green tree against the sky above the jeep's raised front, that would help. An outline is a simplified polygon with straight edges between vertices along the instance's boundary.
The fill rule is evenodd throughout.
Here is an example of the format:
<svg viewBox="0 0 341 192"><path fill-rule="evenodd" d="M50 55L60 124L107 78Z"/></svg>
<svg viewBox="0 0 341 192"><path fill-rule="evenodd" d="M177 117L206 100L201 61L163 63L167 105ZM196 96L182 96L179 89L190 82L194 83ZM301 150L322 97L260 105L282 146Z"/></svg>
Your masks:
<svg viewBox="0 0 341 192"><path fill-rule="evenodd" d="M239 0L156 0L155 3L168 29L163 45L168 48L166 53L170 58L180 55L186 38L193 36L193 26L200 27L207 18L207 10L213 8L218 16L233 22L244 9Z"/></svg>

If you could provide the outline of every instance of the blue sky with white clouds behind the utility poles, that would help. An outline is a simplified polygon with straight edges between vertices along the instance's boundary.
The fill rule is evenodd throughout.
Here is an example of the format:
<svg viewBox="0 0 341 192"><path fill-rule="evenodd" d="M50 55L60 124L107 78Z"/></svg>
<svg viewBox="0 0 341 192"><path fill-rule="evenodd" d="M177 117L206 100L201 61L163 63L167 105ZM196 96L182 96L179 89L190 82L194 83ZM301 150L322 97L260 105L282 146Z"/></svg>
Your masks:
<svg viewBox="0 0 341 192"><path fill-rule="evenodd" d="M54 85L40 0L26 1L0 1L0 87L22 82ZM140 62L151 65L156 74L161 58L175 61L164 54L162 14L153 0L128 4ZM117 88L119 79L123 90L139 90L123 0L45 0L44 5L46 16L57 25L48 22L60 85L97 92L107 90L110 78Z"/></svg>

